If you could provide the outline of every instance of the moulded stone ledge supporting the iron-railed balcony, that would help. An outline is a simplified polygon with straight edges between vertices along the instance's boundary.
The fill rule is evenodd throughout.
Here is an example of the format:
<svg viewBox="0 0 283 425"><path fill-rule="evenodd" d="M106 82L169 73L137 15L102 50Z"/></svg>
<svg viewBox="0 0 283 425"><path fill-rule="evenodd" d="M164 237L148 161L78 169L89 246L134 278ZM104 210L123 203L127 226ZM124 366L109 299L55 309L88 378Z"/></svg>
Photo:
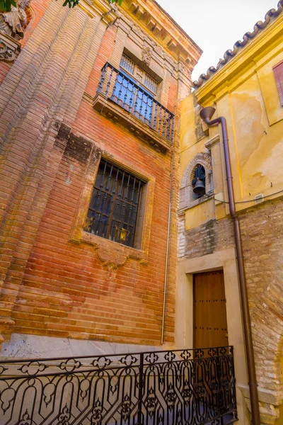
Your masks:
<svg viewBox="0 0 283 425"><path fill-rule="evenodd" d="M122 106L110 100L101 93L97 93L93 99L93 108L110 120L127 128L143 142L148 143L158 152L166 153L172 146L166 137L158 134L155 130L143 123L139 118L125 111Z"/></svg>

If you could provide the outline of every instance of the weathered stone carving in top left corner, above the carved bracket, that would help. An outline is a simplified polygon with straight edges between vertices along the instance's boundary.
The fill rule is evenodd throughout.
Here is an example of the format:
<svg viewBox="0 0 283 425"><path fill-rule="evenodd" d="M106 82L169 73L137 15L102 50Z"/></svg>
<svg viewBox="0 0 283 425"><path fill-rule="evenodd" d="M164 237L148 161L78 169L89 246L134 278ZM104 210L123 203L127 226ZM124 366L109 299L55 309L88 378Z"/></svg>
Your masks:
<svg viewBox="0 0 283 425"><path fill-rule="evenodd" d="M0 31L14 40L21 40L28 20L25 8L29 6L30 0L18 0L16 3L16 7L11 6L11 11L0 13Z"/></svg>

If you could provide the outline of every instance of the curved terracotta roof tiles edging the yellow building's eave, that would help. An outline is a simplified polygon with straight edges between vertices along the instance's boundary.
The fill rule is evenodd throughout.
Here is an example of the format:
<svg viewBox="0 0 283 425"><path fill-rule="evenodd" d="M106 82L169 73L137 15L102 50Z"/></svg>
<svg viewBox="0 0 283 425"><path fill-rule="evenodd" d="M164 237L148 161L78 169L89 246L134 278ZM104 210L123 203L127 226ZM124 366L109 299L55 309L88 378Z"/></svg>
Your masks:
<svg viewBox="0 0 283 425"><path fill-rule="evenodd" d="M233 50L231 50L231 49L226 50L226 52L224 53L224 59L219 60L216 68L209 67L209 69L207 69L207 74L201 74L198 81L193 82L192 87L197 89L205 81L207 81L210 77L212 77L212 75L215 74L227 62L229 62L229 60L231 60L231 58L236 56L238 54L238 52L240 52L242 50L242 48L245 47L248 44L248 42L250 42L250 40L255 38L255 36L258 35L258 33L260 33L260 31L265 29L270 24L270 22L275 21L275 18L277 18L277 16L279 16L279 14L282 13L282 11L283 11L283 0L280 0L278 5L277 5L277 9L270 9L270 11L268 11L266 13L265 21L263 21L263 22L258 21L255 24L255 26L253 27L253 33L249 32L249 33L244 34L243 35L243 41L241 41L241 40L236 41L236 43L233 46Z"/></svg>

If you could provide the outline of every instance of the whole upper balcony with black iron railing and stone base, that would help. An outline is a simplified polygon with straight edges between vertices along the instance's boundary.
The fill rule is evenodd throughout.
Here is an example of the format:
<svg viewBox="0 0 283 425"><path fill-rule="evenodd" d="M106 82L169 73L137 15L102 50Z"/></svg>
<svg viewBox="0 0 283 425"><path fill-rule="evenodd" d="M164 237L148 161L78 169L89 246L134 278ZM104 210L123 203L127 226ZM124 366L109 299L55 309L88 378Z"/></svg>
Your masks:
<svg viewBox="0 0 283 425"><path fill-rule="evenodd" d="M93 108L161 152L173 143L173 113L108 62L101 72Z"/></svg>

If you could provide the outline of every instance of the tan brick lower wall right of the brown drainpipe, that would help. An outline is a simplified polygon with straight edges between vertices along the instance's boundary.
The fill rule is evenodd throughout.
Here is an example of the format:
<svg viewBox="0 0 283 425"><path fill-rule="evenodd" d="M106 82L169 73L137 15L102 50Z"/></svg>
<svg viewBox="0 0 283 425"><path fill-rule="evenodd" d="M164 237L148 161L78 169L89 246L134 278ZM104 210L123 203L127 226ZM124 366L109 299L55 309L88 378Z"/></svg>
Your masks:
<svg viewBox="0 0 283 425"><path fill-rule="evenodd" d="M241 214L241 229L258 384L282 391L282 198Z"/></svg>

